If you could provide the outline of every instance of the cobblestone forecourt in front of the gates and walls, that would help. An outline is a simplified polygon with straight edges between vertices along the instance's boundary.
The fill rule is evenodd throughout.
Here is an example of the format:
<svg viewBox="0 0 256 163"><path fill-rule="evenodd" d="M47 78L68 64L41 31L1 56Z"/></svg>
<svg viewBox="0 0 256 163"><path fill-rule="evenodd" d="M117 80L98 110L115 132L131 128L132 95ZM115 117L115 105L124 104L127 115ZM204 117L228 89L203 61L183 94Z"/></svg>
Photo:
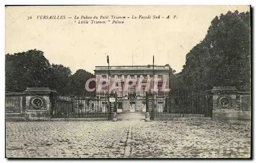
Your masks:
<svg viewBox="0 0 256 163"><path fill-rule="evenodd" d="M6 122L6 156L248 158L250 122Z"/></svg>

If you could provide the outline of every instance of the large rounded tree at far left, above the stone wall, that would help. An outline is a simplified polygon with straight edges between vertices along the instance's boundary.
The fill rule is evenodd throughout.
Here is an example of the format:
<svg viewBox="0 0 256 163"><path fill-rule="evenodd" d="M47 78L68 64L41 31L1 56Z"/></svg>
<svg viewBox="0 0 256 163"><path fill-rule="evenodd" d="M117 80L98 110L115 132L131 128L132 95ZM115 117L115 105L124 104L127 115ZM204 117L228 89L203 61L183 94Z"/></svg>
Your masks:
<svg viewBox="0 0 256 163"><path fill-rule="evenodd" d="M51 65L44 52L29 50L22 53L7 54L6 58L6 90L24 91L26 87L46 87Z"/></svg>

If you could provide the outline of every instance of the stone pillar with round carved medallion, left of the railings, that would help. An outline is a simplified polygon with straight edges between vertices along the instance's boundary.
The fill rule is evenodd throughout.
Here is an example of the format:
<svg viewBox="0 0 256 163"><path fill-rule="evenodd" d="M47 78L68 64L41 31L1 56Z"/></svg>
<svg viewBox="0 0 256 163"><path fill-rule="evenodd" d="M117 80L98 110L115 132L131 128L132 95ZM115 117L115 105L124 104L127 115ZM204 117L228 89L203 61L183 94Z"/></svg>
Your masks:
<svg viewBox="0 0 256 163"><path fill-rule="evenodd" d="M50 121L55 94L56 91L48 87L28 87L24 91L26 96L25 120Z"/></svg>

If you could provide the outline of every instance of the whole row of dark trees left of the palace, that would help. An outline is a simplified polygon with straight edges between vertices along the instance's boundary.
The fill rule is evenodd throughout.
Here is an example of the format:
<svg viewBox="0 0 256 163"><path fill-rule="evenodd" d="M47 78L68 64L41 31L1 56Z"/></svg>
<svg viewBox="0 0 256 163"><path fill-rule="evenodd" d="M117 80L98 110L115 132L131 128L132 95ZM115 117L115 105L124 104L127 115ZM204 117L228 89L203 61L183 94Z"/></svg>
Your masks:
<svg viewBox="0 0 256 163"><path fill-rule="evenodd" d="M44 52L29 50L22 53L7 54L6 58L6 90L22 92L27 87L50 87L57 92L84 92L86 81L93 74L78 69L71 75L69 67L62 64L50 64ZM90 88L95 82L90 83Z"/></svg>

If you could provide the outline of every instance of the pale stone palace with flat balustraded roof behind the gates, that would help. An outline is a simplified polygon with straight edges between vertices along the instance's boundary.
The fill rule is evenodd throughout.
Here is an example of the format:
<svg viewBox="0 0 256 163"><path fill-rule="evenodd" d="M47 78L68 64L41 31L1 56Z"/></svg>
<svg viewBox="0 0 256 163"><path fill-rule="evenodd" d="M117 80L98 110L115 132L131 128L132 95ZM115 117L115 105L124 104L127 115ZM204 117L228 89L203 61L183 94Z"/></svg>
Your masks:
<svg viewBox="0 0 256 163"><path fill-rule="evenodd" d="M96 91L116 93L118 112L145 112L146 92L165 91L169 85L169 71L168 64L96 66ZM111 84L106 86L104 81L108 79Z"/></svg>

